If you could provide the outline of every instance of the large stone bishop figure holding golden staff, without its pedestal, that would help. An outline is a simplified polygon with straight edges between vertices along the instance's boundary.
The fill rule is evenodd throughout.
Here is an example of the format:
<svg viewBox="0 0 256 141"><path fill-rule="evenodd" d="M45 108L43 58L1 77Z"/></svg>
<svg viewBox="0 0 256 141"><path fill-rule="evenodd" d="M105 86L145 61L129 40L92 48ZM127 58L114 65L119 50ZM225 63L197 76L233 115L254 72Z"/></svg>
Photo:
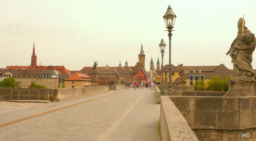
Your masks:
<svg viewBox="0 0 256 141"><path fill-rule="evenodd" d="M243 24L243 18L240 18L237 23L238 34L236 39L231 44L230 49L226 55L230 55L233 63L233 76L251 76L254 75L252 69L252 52L255 49L256 38L255 35L248 30ZM243 32L244 29L244 32Z"/></svg>

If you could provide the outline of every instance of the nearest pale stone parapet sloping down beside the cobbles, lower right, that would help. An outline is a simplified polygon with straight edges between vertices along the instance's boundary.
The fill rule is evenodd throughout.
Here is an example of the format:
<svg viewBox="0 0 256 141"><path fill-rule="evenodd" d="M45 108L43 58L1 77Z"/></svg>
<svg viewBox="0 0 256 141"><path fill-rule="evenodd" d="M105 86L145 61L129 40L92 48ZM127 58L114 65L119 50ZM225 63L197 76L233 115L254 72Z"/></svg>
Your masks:
<svg viewBox="0 0 256 141"><path fill-rule="evenodd" d="M163 141L196 141L198 138L190 129L187 121L170 100L161 96L160 128Z"/></svg>

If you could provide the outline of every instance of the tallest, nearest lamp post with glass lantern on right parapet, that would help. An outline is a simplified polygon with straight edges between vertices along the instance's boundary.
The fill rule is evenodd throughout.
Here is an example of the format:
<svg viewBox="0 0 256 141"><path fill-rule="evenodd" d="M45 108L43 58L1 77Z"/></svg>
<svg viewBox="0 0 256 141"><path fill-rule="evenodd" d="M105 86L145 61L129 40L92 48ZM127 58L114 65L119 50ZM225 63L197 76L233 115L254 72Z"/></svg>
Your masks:
<svg viewBox="0 0 256 141"><path fill-rule="evenodd" d="M176 19L176 15L172 10L172 7L169 5L165 14L164 14L164 22L165 27L168 29L168 36L169 36L169 84L168 84L168 94L167 95L173 95L172 92L172 66L171 66L171 40L172 40L172 30L174 28L174 23Z"/></svg>

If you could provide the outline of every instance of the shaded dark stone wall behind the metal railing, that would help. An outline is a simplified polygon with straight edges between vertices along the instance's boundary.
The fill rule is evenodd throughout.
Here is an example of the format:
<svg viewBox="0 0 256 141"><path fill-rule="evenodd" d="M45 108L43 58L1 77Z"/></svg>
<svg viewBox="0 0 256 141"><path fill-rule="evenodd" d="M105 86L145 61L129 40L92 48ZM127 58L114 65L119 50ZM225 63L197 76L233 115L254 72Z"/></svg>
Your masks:
<svg viewBox="0 0 256 141"><path fill-rule="evenodd" d="M49 95L54 94L54 91L52 89L42 89L42 88L0 88L0 101L6 101L6 100L11 100L11 93L13 90L13 95L18 95L18 90L19 90L19 100L24 100L28 99L28 95L38 95L38 90L39 90L39 100L47 100L47 94L48 90ZM30 91L29 91L30 90ZM49 99L52 99L53 97L49 97ZM18 96L12 96L13 100L18 100ZM30 96L30 99L38 99L38 96Z"/></svg>

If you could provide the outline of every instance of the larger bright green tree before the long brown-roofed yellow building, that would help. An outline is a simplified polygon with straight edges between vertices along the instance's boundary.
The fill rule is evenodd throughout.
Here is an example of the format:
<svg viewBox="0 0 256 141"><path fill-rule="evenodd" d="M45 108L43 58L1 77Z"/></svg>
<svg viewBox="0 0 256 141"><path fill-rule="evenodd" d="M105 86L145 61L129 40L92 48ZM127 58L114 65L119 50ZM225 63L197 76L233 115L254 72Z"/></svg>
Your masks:
<svg viewBox="0 0 256 141"><path fill-rule="evenodd" d="M207 84L211 91L221 91L224 88L225 79L221 79L219 75L214 75Z"/></svg>

